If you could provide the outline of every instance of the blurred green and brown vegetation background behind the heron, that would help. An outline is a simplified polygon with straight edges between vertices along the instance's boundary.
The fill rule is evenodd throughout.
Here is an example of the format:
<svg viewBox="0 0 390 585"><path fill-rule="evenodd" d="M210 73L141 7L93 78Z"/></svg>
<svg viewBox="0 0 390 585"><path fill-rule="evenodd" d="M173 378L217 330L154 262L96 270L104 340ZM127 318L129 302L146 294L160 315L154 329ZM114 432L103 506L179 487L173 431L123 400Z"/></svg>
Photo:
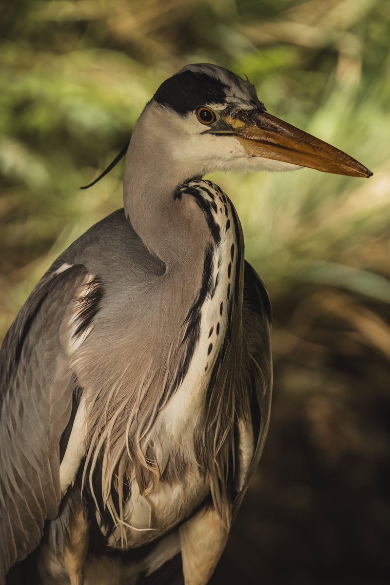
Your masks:
<svg viewBox="0 0 390 585"><path fill-rule="evenodd" d="M390 2L0 5L0 336L56 256L122 206L88 191L158 85L206 61L374 171L213 175L274 308L263 460L212 583L390 582Z"/></svg>

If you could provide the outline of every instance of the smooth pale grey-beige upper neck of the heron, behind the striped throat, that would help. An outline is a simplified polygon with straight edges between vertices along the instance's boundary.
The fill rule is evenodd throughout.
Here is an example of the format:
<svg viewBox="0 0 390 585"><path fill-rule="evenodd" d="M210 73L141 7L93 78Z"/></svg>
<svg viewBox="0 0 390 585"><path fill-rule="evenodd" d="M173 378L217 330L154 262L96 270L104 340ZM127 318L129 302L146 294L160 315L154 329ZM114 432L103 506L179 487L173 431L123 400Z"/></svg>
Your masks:
<svg viewBox="0 0 390 585"><path fill-rule="evenodd" d="M127 150L123 204L144 245L169 266L183 256L188 261L188 246L194 243L194 218L186 202L174 197L177 188L194 174L189 164L175 157L172 135L158 132L158 119L153 123L153 111L148 108L141 114Z"/></svg>

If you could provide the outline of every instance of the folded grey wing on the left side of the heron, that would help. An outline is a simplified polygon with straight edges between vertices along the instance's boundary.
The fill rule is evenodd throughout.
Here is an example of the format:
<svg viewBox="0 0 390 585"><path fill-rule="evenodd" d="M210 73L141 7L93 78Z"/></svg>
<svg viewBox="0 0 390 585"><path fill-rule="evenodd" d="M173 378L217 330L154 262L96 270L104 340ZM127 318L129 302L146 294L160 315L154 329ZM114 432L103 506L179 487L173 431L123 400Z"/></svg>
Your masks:
<svg viewBox="0 0 390 585"><path fill-rule="evenodd" d="M80 290L91 281L87 308L70 327L70 312L76 305L84 309ZM59 443L74 389L66 345L76 328L91 325L99 287L82 265L49 271L0 350L0 583L37 546L44 521L58 513Z"/></svg>

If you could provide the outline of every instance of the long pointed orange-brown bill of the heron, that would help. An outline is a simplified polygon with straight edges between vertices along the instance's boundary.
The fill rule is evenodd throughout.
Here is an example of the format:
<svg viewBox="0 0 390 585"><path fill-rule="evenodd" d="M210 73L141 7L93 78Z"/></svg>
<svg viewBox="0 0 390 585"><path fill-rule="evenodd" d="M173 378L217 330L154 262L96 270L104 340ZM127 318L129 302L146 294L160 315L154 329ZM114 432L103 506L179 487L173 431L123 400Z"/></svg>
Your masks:
<svg viewBox="0 0 390 585"><path fill-rule="evenodd" d="M316 168L324 173L372 176L368 168L348 154L267 112L241 110L226 121L251 156Z"/></svg>

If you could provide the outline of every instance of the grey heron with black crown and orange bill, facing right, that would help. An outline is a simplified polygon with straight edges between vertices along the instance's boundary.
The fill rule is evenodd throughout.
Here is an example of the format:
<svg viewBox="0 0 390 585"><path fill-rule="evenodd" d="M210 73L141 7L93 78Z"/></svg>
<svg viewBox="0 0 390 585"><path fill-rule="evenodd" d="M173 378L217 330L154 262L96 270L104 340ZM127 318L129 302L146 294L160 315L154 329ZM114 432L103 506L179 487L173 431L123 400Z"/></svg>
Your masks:
<svg viewBox="0 0 390 585"><path fill-rule="evenodd" d="M372 175L204 63L160 85L108 170L125 154L123 208L54 261L1 348L1 584L208 583L267 435L272 314L203 177Z"/></svg>

